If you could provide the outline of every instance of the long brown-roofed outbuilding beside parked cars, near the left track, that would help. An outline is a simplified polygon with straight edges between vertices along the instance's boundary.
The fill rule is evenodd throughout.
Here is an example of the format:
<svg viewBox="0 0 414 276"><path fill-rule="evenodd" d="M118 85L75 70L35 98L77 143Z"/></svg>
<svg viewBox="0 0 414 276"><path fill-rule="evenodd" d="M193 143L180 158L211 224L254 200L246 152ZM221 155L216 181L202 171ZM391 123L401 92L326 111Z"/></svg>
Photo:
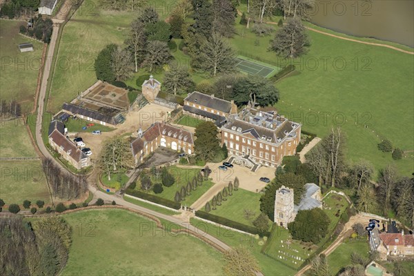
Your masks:
<svg viewBox="0 0 414 276"><path fill-rule="evenodd" d="M65 126L61 121L52 121L48 132L50 146L78 170L90 166L90 157L66 138L65 131Z"/></svg>

